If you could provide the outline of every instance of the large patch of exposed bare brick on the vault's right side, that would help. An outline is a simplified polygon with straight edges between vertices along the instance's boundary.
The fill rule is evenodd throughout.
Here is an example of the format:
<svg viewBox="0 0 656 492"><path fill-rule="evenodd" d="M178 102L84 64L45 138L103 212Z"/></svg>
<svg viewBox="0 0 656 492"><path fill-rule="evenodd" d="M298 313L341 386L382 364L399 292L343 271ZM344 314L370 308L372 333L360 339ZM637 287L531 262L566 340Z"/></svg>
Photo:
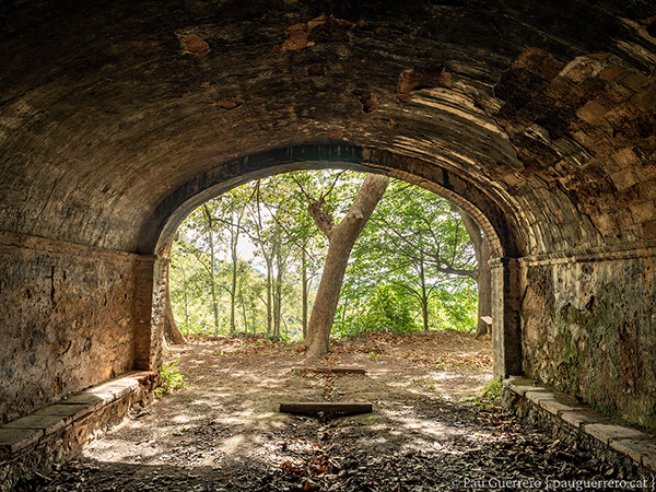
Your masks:
<svg viewBox="0 0 656 492"><path fill-rule="evenodd" d="M494 177L512 194L531 180L550 190L559 210L549 213L560 226L550 232L552 244L566 249L575 243L567 235L572 220L587 222L579 230L596 236L588 246L655 243L654 70L646 75L610 52L561 60L526 48L494 92L503 105L490 115L523 163L522 169L500 166ZM575 219L565 216L572 212Z"/></svg>

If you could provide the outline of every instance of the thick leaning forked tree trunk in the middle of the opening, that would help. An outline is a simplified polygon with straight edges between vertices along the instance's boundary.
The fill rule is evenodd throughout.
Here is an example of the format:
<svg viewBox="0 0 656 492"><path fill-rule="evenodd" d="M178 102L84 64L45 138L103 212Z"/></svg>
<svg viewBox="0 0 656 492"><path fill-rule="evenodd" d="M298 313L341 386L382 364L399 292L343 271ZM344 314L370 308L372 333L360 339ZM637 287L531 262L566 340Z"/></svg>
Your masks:
<svg viewBox="0 0 656 492"><path fill-rule="evenodd" d="M367 175L349 212L336 226L326 227L325 218L317 218L313 213L313 219L319 229L327 234L329 244L326 265L307 326L306 355L309 359L320 358L328 352L330 328L351 249L376 204L383 198L388 183L387 176ZM311 206L311 213L312 210Z"/></svg>

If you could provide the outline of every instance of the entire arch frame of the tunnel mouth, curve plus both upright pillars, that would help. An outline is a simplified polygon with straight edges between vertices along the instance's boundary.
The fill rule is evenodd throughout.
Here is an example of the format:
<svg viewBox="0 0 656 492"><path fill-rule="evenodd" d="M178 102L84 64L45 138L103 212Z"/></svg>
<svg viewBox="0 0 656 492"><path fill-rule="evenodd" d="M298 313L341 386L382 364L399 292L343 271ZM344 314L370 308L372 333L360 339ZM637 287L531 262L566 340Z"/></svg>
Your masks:
<svg viewBox="0 0 656 492"><path fill-rule="evenodd" d="M423 165L422 165L423 164ZM506 214L493 201L489 194L482 192L475 184L458 174L437 165L426 166L415 160L387 155L375 150L343 145L307 145L284 149L267 154L248 156L227 163L210 171L192 183L175 190L169 199L160 207L157 221L159 235L155 229L149 227L151 243L159 259L156 261L153 306L153 323L150 333L141 339L149 349L151 366L161 365L161 338L164 324L172 321L168 294L167 256L175 230L184 218L202 202L247 183L254 178L297 169L312 168L350 168L372 173L385 173L407 183L421 186L446 198L472 216L490 243L492 250L492 339L494 347L494 373L496 376L519 374L520 336L518 317L516 316L517 285L513 284L514 265L508 258L516 255L517 246ZM419 169L423 172L418 173ZM425 173L425 171L432 173ZM154 239L156 237L156 241ZM142 247L148 239L144 239ZM515 290L513 290L515 289ZM141 343L141 342L140 342ZM139 347L139 345L138 345Z"/></svg>

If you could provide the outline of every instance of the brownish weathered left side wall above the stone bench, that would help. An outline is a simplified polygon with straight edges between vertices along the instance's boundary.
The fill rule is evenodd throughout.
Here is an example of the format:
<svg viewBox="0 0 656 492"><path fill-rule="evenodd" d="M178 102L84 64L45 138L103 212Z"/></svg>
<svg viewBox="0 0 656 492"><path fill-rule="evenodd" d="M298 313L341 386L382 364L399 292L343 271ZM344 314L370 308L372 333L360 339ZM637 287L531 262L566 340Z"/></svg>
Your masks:
<svg viewBox="0 0 656 492"><path fill-rule="evenodd" d="M150 262L0 233L0 423L140 365L134 331L151 289L138 302L148 280L137 280L150 271L152 284Z"/></svg>

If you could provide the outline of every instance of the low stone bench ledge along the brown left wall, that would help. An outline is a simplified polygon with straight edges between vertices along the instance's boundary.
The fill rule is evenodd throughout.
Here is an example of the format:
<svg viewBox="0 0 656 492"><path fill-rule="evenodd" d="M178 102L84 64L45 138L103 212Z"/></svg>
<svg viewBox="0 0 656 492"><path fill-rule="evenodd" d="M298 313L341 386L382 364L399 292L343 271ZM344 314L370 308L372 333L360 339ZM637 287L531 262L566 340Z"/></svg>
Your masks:
<svg viewBox="0 0 656 492"><path fill-rule="evenodd" d="M0 426L0 492L75 454L152 400L156 374L130 372Z"/></svg>

